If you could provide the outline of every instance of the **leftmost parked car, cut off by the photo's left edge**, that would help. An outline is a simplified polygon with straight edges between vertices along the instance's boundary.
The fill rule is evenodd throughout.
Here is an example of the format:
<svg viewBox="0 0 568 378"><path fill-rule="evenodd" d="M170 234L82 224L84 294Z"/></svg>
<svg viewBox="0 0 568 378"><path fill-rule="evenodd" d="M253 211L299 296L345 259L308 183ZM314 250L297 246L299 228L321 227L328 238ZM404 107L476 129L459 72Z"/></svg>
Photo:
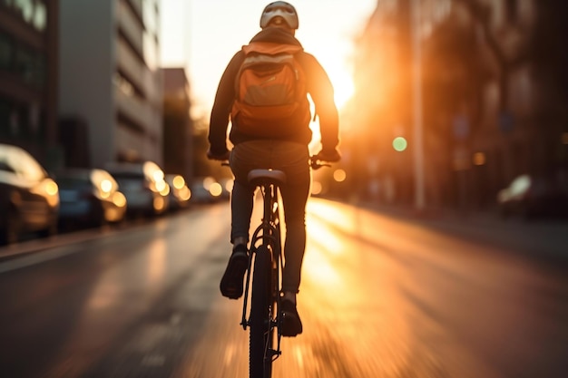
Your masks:
<svg viewBox="0 0 568 378"><path fill-rule="evenodd" d="M26 150L0 144L0 243L12 244L24 234L57 232L57 184Z"/></svg>

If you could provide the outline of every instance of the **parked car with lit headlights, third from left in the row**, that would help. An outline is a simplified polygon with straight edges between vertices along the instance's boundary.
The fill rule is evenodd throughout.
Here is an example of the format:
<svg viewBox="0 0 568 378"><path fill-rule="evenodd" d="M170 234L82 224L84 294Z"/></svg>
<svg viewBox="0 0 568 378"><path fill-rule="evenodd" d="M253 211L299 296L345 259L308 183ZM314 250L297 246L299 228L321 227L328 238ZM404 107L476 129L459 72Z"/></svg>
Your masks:
<svg viewBox="0 0 568 378"><path fill-rule="evenodd" d="M126 197L127 215L155 216L168 209L170 186L153 161L110 163L105 166Z"/></svg>

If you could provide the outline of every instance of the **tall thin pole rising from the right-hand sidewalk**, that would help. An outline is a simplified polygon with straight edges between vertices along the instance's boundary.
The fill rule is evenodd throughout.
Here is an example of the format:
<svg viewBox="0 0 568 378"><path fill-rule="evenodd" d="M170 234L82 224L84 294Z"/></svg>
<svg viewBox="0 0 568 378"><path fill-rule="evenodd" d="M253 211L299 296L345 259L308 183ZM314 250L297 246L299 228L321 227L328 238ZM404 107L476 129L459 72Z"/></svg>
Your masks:
<svg viewBox="0 0 568 378"><path fill-rule="evenodd" d="M424 137L422 124L422 44L420 36L421 10L420 0L411 3L411 34L413 54L413 131L414 131L414 169L415 169L415 207L423 210L426 207L424 184Z"/></svg>

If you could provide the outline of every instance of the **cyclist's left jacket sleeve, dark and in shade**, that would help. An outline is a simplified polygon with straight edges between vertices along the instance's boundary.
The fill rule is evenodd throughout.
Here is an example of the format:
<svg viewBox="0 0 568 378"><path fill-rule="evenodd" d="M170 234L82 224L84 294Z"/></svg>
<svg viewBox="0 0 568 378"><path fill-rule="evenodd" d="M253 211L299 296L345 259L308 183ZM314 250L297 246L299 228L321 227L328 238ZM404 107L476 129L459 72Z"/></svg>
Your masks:
<svg viewBox="0 0 568 378"><path fill-rule="evenodd" d="M221 75L217 88L209 125L209 142L211 152L215 155L223 155L228 150L227 128L229 127L230 110L235 99L235 79L243 57L242 52L233 55L225 72Z"/></svg>

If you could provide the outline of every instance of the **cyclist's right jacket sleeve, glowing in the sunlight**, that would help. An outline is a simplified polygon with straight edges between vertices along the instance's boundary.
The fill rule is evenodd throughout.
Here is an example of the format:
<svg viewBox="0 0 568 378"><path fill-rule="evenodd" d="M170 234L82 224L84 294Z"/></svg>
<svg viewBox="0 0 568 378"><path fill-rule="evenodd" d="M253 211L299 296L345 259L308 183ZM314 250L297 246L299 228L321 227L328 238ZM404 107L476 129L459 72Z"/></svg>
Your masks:
<svg viewBox="0 0 568 378"><path fill-rule="evenodd" d="M302 53L301 56L300 64L307 76L308 93L319 117L322 150L335 150L339 143L339 117L333 85L328 73L313 55Z"/></svg>

